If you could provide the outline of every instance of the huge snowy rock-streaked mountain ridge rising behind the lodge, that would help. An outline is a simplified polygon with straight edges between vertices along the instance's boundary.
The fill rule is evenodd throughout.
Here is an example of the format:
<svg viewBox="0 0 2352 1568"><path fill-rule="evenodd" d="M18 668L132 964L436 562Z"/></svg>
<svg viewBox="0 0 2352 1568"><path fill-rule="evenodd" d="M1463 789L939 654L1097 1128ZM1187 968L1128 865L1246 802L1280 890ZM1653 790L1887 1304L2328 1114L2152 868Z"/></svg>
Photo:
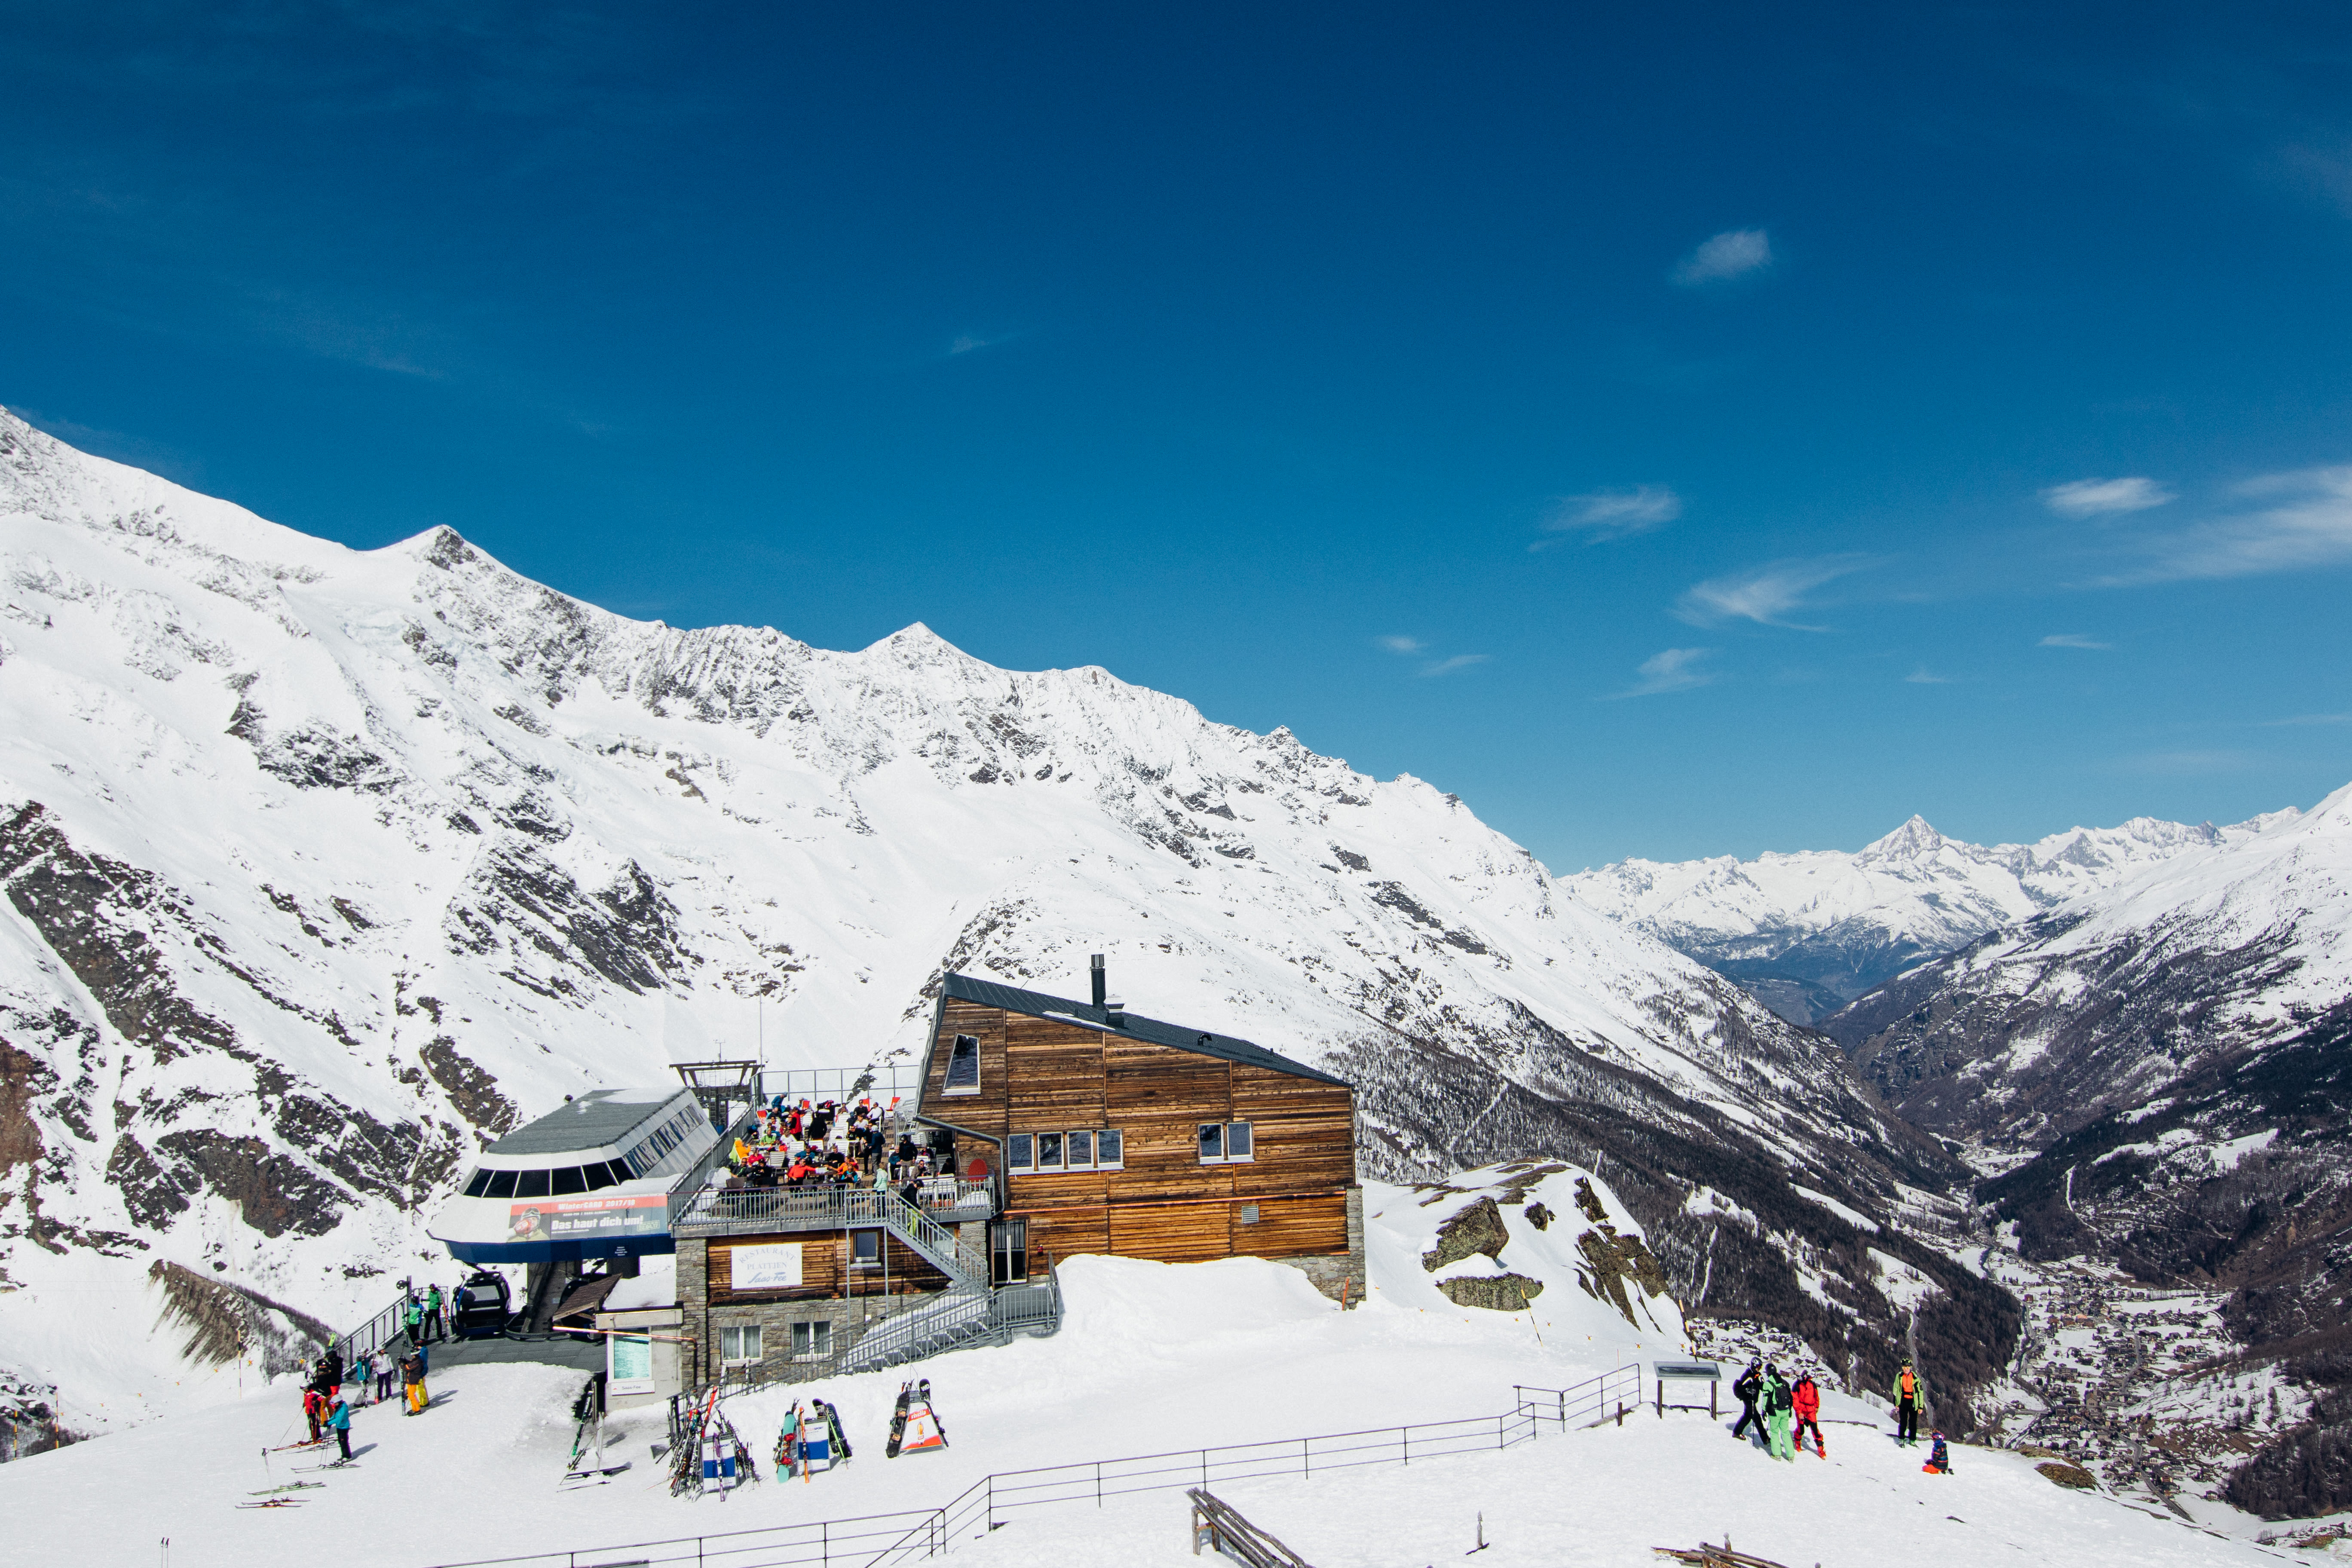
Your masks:
<svg viewBox="0 0 2352 1568"><path fill-rule="evenodd" d="M1903 1333L1844 1215L1957 1173L1416 778L922 625L835 654L447 529L353 552L7 416L0 884L0 1378L80 1429L200 1399L221 1324L294 1354L379 1307L564 1093L903 1058L941 969L1108 952L1138 1011L1350 1077L1371 1175L1606 1164L1677 1295L1842 1361ZM2006 1298L1900 1248L1980 1359Z"/></svg>

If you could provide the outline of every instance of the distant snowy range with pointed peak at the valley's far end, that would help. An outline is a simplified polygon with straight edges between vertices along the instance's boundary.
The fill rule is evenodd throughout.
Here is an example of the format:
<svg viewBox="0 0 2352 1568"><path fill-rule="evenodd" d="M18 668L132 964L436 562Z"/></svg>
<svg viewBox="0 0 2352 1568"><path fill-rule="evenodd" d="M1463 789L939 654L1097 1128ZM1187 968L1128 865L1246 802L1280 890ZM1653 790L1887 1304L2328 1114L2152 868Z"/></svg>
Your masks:
<svg viewBox="0 0 2352 1568"><path fill-rule="evenodd" d="M2232 827L2136 816L2122 827L1992 846L1947 839L1912 816L1853 853L1621 860L1562 884L1585 907L1740 980L1780 1016L1813 1023L1985 931L2293 816L2274 811Z"/></svg>

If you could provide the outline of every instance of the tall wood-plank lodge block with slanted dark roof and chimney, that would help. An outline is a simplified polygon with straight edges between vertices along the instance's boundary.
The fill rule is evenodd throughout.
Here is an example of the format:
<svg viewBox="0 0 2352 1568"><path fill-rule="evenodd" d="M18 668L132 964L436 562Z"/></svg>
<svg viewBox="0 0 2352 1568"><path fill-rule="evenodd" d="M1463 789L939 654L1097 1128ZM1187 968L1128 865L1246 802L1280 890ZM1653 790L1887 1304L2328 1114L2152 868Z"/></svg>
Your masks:
<svg viewBox="0 0 2352 1568"><path fill-rule="evenodd" d="M1033 1258L1270 1258L1364 1295L1355 1093L1230 1034L997 980L943 980L917 1119L1002 1175L990 1274Z"/></svg>

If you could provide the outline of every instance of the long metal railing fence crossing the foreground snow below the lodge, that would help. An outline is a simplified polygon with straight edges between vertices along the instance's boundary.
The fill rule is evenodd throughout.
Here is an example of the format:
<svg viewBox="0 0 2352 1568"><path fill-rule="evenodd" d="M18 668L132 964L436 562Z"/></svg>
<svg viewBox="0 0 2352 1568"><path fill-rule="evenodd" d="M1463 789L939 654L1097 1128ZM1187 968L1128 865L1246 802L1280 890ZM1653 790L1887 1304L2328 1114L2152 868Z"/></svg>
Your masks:
<svg viewBox="0 0 2352 1568"><path fill-rule="evenodd" d="M1630 1380L1630 1382L1628 1382ZM868 1514L764 1530L724 1535L689 1535L677 1540L633 1542L619 1547L581 1547L576 1552L539 1552L532 1556L496 1556L440 1568L602 1568L626 1563L661 1568L663 1563L701 1563L703 1568L797 1568L800 1563L856 1563L858 1568L896 1568L941 1556L960 1540L976 1540L1025 1509L1077 1502L1105 1505L1136 1493L1192 1490L1223 1481L1261 1476L1319 1476L1334 1469L1367 1465L1414 1465L1470 1453L1498 1453L1536 1441L1548 1425L1564 1432L1597 1427L1581 1413L1609 1408L1611 1389L1630 1389L1625 1408L1639 1406L1642 1368L1602 1373L1569 1389L1515 1387L1515 1403L1503 1415L1418 1422L1411 1427L1376 1427L1371 1432L1331 1432L1270 1443L1228 1443L1221 1448L1178 1448L1120 1460L1082 1460L981 1476L957 1497L936 1509Z"/></svg>

